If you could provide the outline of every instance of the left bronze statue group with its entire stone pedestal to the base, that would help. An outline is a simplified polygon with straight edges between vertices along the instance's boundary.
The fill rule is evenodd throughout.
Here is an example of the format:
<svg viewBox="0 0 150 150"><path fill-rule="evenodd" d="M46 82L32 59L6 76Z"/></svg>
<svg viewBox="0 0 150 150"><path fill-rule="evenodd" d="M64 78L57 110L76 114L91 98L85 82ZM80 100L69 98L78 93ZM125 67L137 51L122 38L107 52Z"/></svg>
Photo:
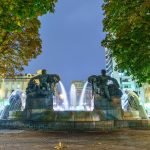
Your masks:
<svg viewBox="0 0 150 150"><path fill-rule="evenodd" d="M46 111L53 109L53 95L59 80L58 75L47 74L46 70L30 79L26 89L24 119L40 120Z"/></svg>

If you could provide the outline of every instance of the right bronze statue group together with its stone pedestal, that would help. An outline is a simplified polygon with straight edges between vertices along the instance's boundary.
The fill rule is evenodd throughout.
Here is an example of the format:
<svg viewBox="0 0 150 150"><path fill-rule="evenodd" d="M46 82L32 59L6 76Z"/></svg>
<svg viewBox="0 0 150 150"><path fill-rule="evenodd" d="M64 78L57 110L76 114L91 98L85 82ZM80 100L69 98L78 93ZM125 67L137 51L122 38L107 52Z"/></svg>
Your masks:
<svg viewBox="0 0 150 150"><path fill-rule="evenodd" d="M88 82L92 85L94 109L102 110L106 119L121 119L122 91L117 80L101 70L101 75L90 76Z"/></svg>

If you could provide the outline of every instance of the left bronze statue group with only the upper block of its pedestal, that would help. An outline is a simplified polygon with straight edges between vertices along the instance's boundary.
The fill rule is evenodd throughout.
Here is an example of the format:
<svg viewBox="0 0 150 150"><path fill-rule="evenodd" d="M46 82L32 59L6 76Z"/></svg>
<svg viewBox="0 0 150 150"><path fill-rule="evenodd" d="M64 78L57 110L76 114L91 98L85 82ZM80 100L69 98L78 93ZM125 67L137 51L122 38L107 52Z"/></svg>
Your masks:
<svg viewBox="0 0 150 150"><path fill-rule="evenodd" d="M26 89L26 109L44 109L53 107L53 95L60 77L47 74L46 70L30 79Z"/></svg>

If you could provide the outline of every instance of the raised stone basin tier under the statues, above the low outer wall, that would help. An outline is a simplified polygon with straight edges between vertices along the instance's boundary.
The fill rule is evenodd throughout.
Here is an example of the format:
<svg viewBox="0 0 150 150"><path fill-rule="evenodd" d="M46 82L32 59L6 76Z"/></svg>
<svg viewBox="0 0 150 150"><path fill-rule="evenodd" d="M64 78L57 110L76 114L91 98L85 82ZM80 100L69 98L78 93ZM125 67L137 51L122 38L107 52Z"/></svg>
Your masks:
<svg viewBox="0 0 150 150"><path fill-rule="evenodd" d="M121 120L120 109L94 111L53 111L50 109L28 109L25 111L10 111L9 119L32 121L81 121L93 122L103 120Z"/></svg>

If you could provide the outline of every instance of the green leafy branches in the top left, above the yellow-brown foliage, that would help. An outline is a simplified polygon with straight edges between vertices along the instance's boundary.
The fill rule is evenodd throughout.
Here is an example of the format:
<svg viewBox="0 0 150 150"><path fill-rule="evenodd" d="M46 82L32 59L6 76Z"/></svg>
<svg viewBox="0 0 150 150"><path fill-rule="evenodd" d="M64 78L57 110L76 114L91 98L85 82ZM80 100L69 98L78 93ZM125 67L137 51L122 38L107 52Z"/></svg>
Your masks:
<svg viewBox="0 0 150 150"><path fill-rule="evenodd" d="M0 28L21 31L24 20L54 12L56 2L57 0L1 0Z"/></svg>

